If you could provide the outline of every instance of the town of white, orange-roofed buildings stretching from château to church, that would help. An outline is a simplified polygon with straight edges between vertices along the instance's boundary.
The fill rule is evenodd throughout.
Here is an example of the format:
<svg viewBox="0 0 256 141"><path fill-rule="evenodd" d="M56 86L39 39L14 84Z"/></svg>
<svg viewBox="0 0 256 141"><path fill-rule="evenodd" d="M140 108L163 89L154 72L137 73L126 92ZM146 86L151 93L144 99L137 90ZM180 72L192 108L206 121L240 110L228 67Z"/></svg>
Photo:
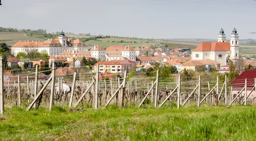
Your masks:
<svg viewBox="0 0 256 141"><path fill-rule="evenodd" d="M46 52L49 60L22 62L17 57L35 50ZM228 73L230 60L239 62L237 64L244 62L242 66L236 66L236 70L240 73L249 65L256 66L255 60L239 58L239 34L236 28L231 32L230 42L226 42L226 34L221 28L216 42L201 42L193 50L190 48L152 49L144 46L133 48L130 45L111 45L107 48L102 48L100 45L87 46L79 39L70 40L62 31L56 39L48 39L44 42L34 40L17 42L12 46L11 51L16 57L8 58L10 68L16 65L33 68L36 64L41 68L45 62L50 67L50 64L55 62L60 68L66 64L65 67L70 68L88 66L94 71L96 65L99 65L99 72L102 75L124 73L130 70L145 71L148 68L154 68L156 63L173 66L177 68L177 73L181 73L184 69L195 72L215 70L219 73ZM92 65L94 67L91 67ZM5 78L8 79L8 77Z"/></svg>

